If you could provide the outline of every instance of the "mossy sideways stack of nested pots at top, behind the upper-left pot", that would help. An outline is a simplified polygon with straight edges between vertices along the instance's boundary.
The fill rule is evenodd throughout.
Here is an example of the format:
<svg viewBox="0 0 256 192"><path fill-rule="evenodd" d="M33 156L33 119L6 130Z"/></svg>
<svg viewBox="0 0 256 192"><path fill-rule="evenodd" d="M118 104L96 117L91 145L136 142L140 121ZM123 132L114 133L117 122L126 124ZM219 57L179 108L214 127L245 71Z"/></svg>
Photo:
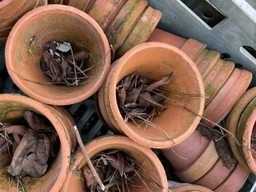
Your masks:
<svg viewBox="0 0 256 192"><path fill-rule="evenodd" d="M103 29L109 44L120 58L132 47L145 43L162 13L147 7L145 0L68 0L49 3L73 6L88 13Z"/></svg>

